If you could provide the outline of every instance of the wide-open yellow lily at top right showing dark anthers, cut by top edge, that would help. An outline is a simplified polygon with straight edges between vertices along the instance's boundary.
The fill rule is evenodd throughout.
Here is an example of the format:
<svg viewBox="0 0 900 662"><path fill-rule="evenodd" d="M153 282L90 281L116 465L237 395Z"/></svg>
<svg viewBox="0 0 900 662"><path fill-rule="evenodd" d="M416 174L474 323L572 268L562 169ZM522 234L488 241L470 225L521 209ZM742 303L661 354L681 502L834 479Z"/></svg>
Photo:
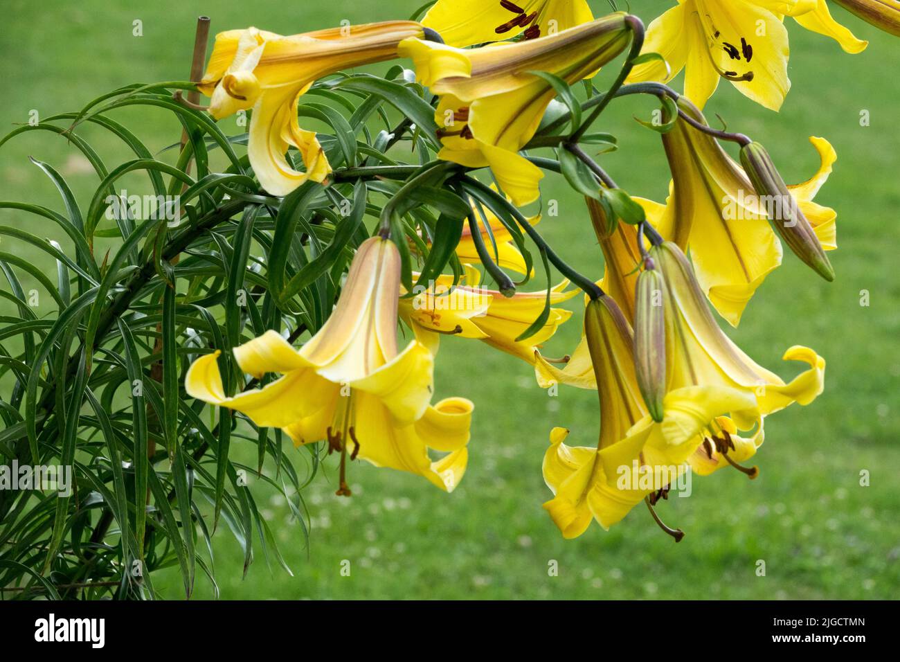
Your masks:
<svg viewBox="0 0 900 662"><path fill-rule="evenodd" d="M741 94L778 111L790 89L782 14L832 37L848 53L869 43L836 23L825 0L679 0L650 23L644 43L644 52L660 53L669 68L647 62L635 67L627 82L668 83L685 69L684 93L700 108L725 78Z"/></svg>

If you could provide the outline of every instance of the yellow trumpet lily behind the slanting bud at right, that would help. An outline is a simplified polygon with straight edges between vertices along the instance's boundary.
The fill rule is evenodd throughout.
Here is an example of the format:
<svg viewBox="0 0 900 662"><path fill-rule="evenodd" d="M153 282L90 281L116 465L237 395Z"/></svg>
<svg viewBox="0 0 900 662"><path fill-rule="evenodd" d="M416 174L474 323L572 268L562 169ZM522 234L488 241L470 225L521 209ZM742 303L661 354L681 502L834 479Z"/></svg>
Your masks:
<svg viewBox="0 0 900 662"><path fill-rule="evenodd" d="M685 98L680 108L698 122L703 114ZM666 204L635 198L663 239L690 249L697 278L709 301L732 326L756 289L781 264L781 242L769 218L779 213L770 201L754 193L743 168L715 138L679 121L663 135L672 172ZM833 209L813 198L827 181L837 159L831 143L810 137L821 159L813 177L788 191L797 201L825 250L837 248ZM771 207L771 208L770 208Z"/></svg>

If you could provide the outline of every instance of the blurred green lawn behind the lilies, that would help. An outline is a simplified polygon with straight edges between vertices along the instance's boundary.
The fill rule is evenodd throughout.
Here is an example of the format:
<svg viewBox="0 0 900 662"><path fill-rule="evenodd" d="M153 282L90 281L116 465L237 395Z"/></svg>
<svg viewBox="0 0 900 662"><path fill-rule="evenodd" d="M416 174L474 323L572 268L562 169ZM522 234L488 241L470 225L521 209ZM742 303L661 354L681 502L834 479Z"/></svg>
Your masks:
<svg viewBox="0 0 900 662"><path fill-rule="evenodd" d="M630 6L649 23L671 4L633 0ZM199 14L211 16L213 33L256 25L289 34L343 19L406 18L419 0L365 6L350 0L132 5L6 0L0 131L27 122L31 111L40 116L76 111L128 83L185 79ZM591 5L597 15L608 10L606 0ZM838 153L833 176L817 198L839 214L840 249L831 254L836 281L825 283L787 253L783 267L752 300L741 328L729 331L753 358L785 378L797 372L780 360L790 345L808 345L828 360L825 393L808 407L795 405L767 421L766 443L755 458L760 478L749 481L722 470L695 480L690 498L663 503L662 517L687 532L678 545L644 508L635 508L612 531L592 525L580 539L563 540L541 508L550 497L541 461L555 425L570 428L575 445L596 443L596 394L562 389L550 397L525 363L481 343L446 339L437 364L437 395L460 394L476 403L462 485L447 495L421 478L355 463L354 496L339 498L335 463L329 462L303 494L311 524L307 543L283 497L270 496L261 482L251 483L293 576L275 563L270 570L257 555L242 578L241 551L223 525L214 539L221 597L896 597L900 41L838 7L833 14L868 39L869 50L845 54L834 41L788 19L794 89L781 113L752 104L727 84L707 105L709 116L721 113L730 129L766 144L788 183L806 179L818 165L808 136L824 136ZM135 21L142 36L133 34ZM679 88L680 80L673 85ZM662 201L669 178L659 138L632 119L647 117L653 107L649 98L618 100L596 129L619 137L621 149L601 161L619 185ZM863 111L869 126L860 126ZM122 110L113 117L156 149L179 137L165 113ZM223 127L238 132L234 118ZM102 132L87 127L85 137L107 165L129 158ZM92 169L66 141L44 132L16 137L0 148L0 199L61 209L58 194L29 155L58 168L86 204L96 185ZM145 185L134 179L122 186L143 192ZM540 230L575 266L599 277L599 248L579 196L556 177L545 180L544 196L559 201L560 213L545 218ZM9 222L12 213L0 213ZM14 218L41 235L56 231L33 216ZM3 242L4 250L31 256L27 246ZM52 264L47 268L52 273ZM536 287L541 286L538 277ZM863 291L869 293L868 306L860 305ZM580 323L576 314L547 353L571 351ZM234 452L251 458L256 449L237 444ZM306 454L289 453L302 471ZM870 472L869 486L860 485L862 470ZM350 576L340 573L344 559L350 561ZM759 559L766 563L766 576L756 574ZM548 573L552 561L558 563L557 576ZM174 570L155 584L165 597L183 597ZM211 596L205 577L198 576L197 584L197 596Z"/></svg>

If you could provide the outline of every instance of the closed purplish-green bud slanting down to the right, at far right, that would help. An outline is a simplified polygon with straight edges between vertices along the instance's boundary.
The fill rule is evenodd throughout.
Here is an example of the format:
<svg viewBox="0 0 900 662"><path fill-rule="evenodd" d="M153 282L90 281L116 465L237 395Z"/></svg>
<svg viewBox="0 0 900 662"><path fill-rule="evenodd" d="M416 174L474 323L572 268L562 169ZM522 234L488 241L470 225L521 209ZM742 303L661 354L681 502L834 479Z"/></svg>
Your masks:
<svg viewBox="0 0 900 662"><path fill-rule="evenodd" d="M772 163L769 152L759 142L750 142L741 148L741 163L750 177L756 194L770 209L769 220L779 237L810 268L827 281L834 280L834 269L825 256L822 244L815 236L813 226L790 195L788 186Z"/></svg>

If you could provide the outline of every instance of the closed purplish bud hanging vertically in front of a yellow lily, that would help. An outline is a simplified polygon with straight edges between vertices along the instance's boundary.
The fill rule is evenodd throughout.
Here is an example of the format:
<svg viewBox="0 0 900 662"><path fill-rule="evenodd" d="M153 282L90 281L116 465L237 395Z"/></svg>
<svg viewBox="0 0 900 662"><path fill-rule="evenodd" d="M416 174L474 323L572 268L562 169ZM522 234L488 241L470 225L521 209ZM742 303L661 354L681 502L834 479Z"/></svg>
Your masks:
<svg viewBox="0 0 900 662"><path fill-rule="evenodd" d="M666 325L662 274L646 258L635 287L635 374L653 421L662 422L666 394Z"/></svg>

